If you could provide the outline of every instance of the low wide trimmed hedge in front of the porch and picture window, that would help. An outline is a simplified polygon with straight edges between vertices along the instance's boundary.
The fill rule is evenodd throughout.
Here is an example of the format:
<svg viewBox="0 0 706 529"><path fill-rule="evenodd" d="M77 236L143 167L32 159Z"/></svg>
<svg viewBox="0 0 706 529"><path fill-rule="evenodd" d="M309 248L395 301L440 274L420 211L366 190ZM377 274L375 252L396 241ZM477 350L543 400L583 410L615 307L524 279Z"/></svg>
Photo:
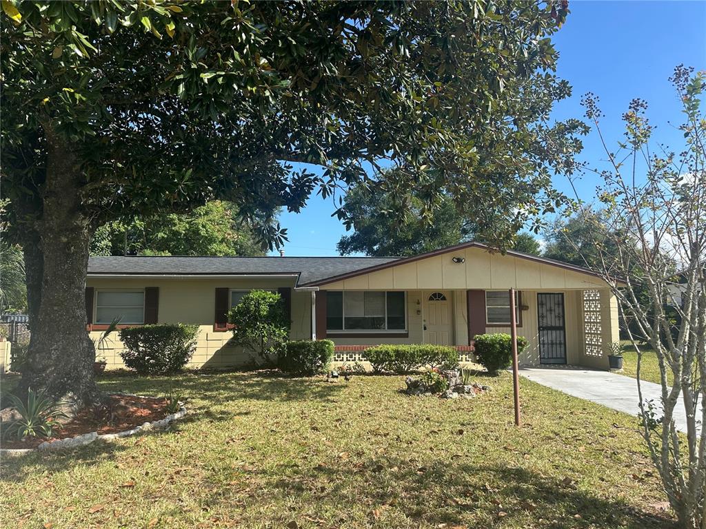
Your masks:
<svg viewBox="0 0 706 529"><path fill-rule="evenodd" d="M369 347L363 355L376 373L406 373L421 367L455 367L458 364L458 351L455 347L428 344L386 344Z"/></svg>

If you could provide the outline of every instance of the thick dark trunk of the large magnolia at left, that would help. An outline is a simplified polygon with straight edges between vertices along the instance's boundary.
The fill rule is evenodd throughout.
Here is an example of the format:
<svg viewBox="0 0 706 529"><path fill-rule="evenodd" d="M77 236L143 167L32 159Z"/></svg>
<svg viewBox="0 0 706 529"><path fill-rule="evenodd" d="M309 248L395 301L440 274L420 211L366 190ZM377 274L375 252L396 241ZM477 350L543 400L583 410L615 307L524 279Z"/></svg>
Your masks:
<svg viewBox="0 0 706 529"><path fill-rule="evenodd" d="M25 245L32 337L21 389L44 391L68 411L99 396L95 348L86 330L89 222L70 147L47 134L47 180L38 245Z"/></svg>

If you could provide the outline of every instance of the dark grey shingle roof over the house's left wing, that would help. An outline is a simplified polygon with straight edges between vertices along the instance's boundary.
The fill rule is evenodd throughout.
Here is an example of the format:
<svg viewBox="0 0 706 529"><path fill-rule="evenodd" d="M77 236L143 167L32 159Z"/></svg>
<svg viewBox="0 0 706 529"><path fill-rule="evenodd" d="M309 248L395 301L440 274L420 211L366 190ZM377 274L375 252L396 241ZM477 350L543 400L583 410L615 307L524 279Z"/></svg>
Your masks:
<svg viewBox="0 0 706 529"><path fill-rule="evenodd" d="M91 257L89 275L299 274L298 284L384 265L400 257Z"/></svg>

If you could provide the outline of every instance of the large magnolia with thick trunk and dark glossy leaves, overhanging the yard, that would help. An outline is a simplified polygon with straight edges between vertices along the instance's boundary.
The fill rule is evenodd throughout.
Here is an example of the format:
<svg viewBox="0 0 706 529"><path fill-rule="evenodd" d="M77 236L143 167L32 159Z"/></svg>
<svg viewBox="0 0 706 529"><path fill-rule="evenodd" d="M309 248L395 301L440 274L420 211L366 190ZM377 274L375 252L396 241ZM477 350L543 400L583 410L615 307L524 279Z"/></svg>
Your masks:
<svg viewBox="0 0 706 529"><path fill-rule="evenodd" d="M395 193L442 186L531 215L560 199L551 174L580 149L580 123L548 123L570 94L551 44L566 0L2 9L6 236L23 246L32 326L20 391L61 401L100 399L84 289L107 222L228 200L276 244L280 209L381 164Z"/></svg>

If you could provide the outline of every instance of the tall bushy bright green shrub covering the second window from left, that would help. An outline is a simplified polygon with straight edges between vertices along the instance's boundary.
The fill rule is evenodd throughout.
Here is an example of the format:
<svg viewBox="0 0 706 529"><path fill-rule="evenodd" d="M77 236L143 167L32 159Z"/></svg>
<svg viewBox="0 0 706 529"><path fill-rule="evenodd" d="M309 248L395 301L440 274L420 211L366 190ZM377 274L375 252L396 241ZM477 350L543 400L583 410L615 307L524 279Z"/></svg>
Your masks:
<svg viewBox="0 0 706 529"><path fill-rule="evenodd" d="M291 324L280 294L264 290L247 293L228 312L228 322L233 324L232 343L249 351L256 363L275 365Z"/></svg>

